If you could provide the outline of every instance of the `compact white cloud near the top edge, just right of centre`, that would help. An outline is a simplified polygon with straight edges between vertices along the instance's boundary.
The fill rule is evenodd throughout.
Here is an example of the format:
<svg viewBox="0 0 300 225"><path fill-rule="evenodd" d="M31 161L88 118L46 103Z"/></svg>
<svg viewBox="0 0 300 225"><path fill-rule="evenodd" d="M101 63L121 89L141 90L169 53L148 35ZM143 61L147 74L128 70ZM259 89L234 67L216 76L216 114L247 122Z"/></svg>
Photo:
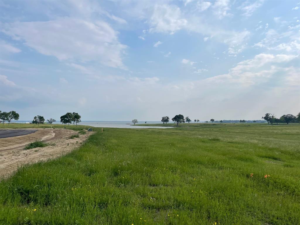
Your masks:
<svg viewBox="0 0 300 225"><path fill-rule="evenodd" d="M156 4L153 14L149 19L149 32L174 34L187 24L187 20L182 18L182 13L176 5Z"/></svg>

